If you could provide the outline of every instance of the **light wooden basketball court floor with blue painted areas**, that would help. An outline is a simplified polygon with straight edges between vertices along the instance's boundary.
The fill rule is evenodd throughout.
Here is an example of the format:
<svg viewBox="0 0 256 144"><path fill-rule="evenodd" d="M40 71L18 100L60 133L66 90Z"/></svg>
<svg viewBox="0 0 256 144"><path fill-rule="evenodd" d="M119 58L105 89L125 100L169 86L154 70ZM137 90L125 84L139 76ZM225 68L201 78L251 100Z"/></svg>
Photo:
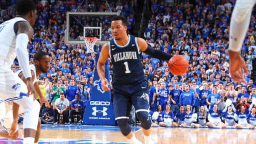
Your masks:
<svg viewBox="0 0 256 144"><path fill-rule="evenodd" d="M136 137L144 141L142 129L133 127ZM0 144L22 144L19 139L0 137ZM156 144L255 144L256 131L250 129L153 128ZM42 125L39 144L127 144L117 126Z"/></svg>

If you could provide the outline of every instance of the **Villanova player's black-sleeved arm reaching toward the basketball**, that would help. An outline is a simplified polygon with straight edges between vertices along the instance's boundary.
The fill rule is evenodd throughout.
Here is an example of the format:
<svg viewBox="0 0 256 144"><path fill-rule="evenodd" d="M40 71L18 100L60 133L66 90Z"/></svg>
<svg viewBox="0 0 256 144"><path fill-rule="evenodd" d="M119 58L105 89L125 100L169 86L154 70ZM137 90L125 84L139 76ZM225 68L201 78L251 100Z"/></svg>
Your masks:
<svg viewBox="0 0 256 144"><path fill-rule="evenodd" d="M137 38L137 43L139 50L148 54L152 58L168 61L172 57L172 55L162 52L161 50L151 48L143 38Z"/></svg>

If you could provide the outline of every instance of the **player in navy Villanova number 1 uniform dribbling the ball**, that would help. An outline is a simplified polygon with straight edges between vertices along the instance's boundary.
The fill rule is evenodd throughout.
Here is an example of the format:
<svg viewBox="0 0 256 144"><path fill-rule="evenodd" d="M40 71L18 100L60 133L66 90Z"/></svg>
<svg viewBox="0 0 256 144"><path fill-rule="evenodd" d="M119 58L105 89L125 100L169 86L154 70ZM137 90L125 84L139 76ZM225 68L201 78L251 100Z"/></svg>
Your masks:
<svg viewBox="0 0 256 144"><path fill-rule="evenodd" d="M108 88L105 79L105 63L110 56L113 64L114 114L122 134L132 144L141 144L135 138L128 124L132 105L140 119L144 133L144 143L153 144L151 139L151 120L148 118L149 97L148 82L141 64L142 52L150 57L168 61L172 55L155 50L148 46L142 38L127 34L127 20L123 16L115 16L111 21L113 39L102 46L97 63L97 71L104 91Z"/></svg>

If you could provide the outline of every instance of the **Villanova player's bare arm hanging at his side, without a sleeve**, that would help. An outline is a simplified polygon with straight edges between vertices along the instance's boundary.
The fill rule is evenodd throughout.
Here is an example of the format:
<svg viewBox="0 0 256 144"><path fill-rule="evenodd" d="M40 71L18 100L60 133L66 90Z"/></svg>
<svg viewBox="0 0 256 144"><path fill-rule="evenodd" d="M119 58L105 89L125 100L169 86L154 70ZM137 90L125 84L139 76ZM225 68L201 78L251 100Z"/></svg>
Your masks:
<svg viewBox="0 0 256 144"><path fill-rule="evenodd" d="M97 71L98 71L98 75L101 80L102 90L104 90L104 91L110 90L110 88L108 88L109 82L105 78L105 63L108 59L108 56L109 56L109 46L108 46L108 43L105 43L102 46L101 54L100 54L100 57L97 62Z"/></svg>

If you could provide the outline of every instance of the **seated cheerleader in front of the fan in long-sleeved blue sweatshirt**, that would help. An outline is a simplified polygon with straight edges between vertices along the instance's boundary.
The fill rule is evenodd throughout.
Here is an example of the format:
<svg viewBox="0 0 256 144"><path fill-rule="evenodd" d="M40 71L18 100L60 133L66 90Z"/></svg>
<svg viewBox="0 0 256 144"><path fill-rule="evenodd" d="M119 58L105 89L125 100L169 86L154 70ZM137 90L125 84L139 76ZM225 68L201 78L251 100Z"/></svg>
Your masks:
<svg viewBox="0 0 256 144"><path fill-rule="evenodd" d="M197 127L199 128L201 125L197 124L197 123L193 123L192 121L192 114L194 114L193 112L191 112L191 106L187 105L186 106L186 111L183 113L185 115L185 120L184 120L184 124L181 124L181 127ZM195 113L196 114L196 113Z"/></svg>

